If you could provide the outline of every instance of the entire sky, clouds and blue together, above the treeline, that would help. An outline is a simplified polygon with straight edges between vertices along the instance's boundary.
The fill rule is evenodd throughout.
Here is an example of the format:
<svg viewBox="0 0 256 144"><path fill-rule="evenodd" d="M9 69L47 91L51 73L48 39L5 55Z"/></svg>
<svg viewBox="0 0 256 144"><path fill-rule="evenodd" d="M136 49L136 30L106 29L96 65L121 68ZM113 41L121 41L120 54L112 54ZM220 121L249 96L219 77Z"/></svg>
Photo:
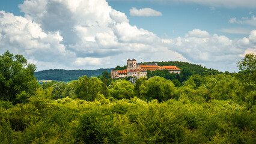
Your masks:
<svg viewBox="0 0 256 144"><path fill-rule="evenodd" d="M0 54L39 70L184 61L238 72L256 53L255 0L0 0Z"/></svg>

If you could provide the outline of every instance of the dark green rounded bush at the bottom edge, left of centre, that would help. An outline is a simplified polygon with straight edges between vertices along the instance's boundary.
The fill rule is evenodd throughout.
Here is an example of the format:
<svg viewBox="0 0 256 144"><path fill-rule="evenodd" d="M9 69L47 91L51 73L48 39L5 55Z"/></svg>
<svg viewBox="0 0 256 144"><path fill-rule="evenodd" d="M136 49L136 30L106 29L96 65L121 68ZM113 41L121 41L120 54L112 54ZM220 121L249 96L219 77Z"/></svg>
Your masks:
<svg viewBox="0 0 256 144"><path fill-rule="evenodd" d="M88 110L79 119L76 142L79 143L120 143L122 142L125 117L121 118L108 109Z"/></svg>

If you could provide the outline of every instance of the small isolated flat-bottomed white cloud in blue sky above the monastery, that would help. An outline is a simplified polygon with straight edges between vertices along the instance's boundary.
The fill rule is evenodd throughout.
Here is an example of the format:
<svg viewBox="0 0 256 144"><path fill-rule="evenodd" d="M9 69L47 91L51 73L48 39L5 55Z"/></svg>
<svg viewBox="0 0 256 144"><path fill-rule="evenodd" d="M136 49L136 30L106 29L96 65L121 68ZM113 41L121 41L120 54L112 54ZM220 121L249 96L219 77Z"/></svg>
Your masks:
<svg viewBox="0 0 256 144"><path fill-rule="evenodd" d="M133 7L130 9L130 16L162 16L162 13L151 8L141 8L137 10L137 8Z"/></svg>

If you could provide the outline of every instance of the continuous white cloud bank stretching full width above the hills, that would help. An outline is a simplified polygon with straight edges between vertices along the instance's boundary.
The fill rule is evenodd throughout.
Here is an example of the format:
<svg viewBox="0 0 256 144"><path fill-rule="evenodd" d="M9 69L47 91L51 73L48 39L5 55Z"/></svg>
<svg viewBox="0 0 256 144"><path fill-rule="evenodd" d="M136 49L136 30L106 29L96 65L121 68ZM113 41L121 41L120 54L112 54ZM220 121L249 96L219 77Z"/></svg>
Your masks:
<svg viewBox="0 0 256 144"><path fill-rule="evenodd" d="M24 17L0 11L0 53L22 54L38 70L111 68L135 58L234 71L240 56L255 50L255 30L239 40L201 29L162 40L130 25L127 16L105 0L31 0L19 8Z"/></svg>

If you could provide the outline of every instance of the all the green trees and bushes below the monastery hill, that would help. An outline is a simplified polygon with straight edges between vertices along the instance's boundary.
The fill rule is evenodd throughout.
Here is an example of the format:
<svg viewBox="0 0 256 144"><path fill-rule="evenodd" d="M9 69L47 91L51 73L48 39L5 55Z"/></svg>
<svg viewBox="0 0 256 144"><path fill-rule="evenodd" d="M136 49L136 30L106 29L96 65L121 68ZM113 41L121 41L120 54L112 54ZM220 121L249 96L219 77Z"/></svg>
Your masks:
<svg viewBox="0 0 256 144"><path fill-rule="evenodd" d="M247 54L237 63L240 72L231 74L184 68L182 83L165 75L130 83L103 71L39 85L35 65L5 52L0 142L255 143L255 61Z"/></svg>

